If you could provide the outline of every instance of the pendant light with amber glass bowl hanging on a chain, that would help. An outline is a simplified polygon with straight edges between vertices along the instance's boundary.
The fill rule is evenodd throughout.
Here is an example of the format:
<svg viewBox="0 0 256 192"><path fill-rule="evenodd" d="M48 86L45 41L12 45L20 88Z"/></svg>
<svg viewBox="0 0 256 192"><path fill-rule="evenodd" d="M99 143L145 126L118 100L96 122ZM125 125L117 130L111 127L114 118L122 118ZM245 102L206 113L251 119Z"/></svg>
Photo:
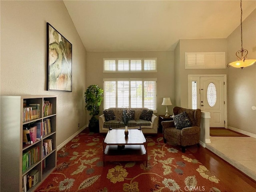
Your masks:
<svg viewBox="0 0 256 192"><path fill-rule="evenodd" d="M243 48L243 30L242 30L242 0L240 0L240 8L241 8L241 50L238 50L236 52L236 58L237 61L231 62L229 64L227 64L227 67L236 67L236 68L244 68L244 67L248 67L252 64L256 63L256 59L246 59L246 56L248 54L248 51L246 49ZM241 54L241 57L238 56L238 54Z"/></svg>

